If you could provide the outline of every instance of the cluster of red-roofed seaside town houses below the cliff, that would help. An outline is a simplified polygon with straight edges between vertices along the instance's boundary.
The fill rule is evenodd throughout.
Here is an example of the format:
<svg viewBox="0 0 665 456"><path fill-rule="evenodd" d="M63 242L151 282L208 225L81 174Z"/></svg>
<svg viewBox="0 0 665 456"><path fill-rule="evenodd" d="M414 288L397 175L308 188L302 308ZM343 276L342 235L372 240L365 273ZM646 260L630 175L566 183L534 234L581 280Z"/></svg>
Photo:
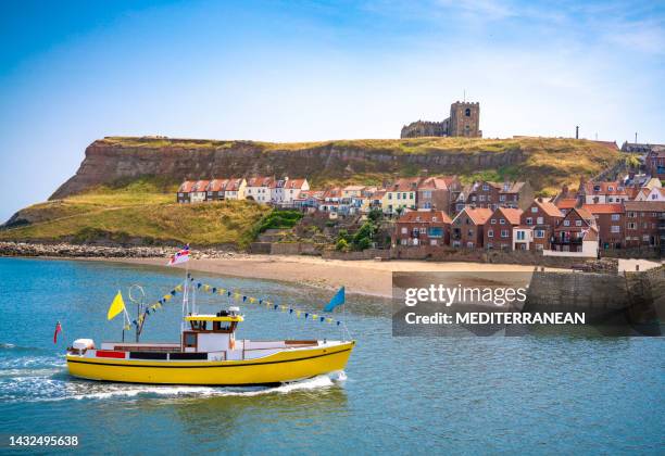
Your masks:
<svg viewBox="0 0 665 456"><path fill-rule="evenodd" d="M457 176L327 189L312 189L306 178L254 176L184 181L177 202L253 200L330 220L380 214L391 227L392 249L424 253L453 248L597 257L613 250L658 251L665 248L665 148L623 149L636 148L644 153L642 173L581 180L553 198L536 198L526 181L464 183Z"/></svg>

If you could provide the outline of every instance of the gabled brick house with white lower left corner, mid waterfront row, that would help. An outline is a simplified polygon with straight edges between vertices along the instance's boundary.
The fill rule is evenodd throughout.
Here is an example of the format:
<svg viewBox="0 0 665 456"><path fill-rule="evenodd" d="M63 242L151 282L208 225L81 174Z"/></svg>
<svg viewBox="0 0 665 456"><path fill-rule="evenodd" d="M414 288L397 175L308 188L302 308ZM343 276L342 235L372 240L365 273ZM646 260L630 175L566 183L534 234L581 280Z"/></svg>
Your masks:
<svg viewBox="0 0 665 456"><path fill-rule="evenodd" d="M513 228L513 250L537 252L550 250L554 228L561 224L563 218L564 214L551 201L542 198L534 200L531 205L522 213L519 226Z"/></svg>

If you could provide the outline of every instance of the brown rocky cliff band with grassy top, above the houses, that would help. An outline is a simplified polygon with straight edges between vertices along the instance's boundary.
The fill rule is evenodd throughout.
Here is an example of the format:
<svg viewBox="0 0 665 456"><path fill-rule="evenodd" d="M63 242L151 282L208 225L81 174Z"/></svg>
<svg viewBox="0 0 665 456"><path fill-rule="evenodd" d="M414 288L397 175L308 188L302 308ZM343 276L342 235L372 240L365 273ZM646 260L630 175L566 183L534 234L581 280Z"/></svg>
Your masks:
<svg viewBox="0 0 665 456"><path fill-rule="evenodd" d="M573 162L577 165L584 157L590 159L590 169L582 168L579 174L593 174L598 170L595 168L615 160L615 152L592 142L542 138L417 138L266 143L108 137L86 149L85 160L76 175L63 183L51 200L101 183L143 176L165 177L177 182L183 179L259 174L304 176L314 182L323 182L363 175L375 178L396 173L413 175L423 169L429 174L472 174L505 167L524 172L524 177L539 189L551 182L529 176L529 169L534 169L534 166L538 173L543 172L542 163L531 160L538 154L565 154L566 160L573 154ZM561 157L564 159L564 155ZM545 174L562 178L577 177L567 176L566 173L545 169Z"/></svg>

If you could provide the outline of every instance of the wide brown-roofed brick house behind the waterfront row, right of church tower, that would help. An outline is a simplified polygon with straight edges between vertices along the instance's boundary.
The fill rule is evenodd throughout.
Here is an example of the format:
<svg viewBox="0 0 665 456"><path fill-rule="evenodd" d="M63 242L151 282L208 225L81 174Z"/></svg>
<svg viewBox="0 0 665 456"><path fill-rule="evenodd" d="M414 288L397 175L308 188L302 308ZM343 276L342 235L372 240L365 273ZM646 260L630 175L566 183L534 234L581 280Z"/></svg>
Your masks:
<svg viewBox="0 0 665 456"><path fill-rule="evenodd" d="M472 207L526 208L534 200L534 190L528 182L475 182L466 197L466 205Z"/></svg>

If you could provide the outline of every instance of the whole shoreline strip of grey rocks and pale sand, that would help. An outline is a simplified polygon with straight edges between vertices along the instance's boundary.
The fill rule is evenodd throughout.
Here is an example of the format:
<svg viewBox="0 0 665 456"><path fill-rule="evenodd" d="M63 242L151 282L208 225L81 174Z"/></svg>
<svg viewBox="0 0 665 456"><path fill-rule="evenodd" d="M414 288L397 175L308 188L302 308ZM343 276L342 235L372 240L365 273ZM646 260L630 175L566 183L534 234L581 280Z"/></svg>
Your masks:
<svg viewBox="0 0 665 456"><path fill-rule="evenodd" d="M167 258L176 251L175 248L165 246L116 248L0 242L0 256L4 257L110 262L172 270L185 269L184 265L166 266ZM636 264L640 265L640 270L647 270L660 264L638 259L625 259L620 263L619 270L635 270ZM536 268L532 265L498 263L328 259L321 256L248 254L214 249L196 251L188 266L192 271L211 275L302 283L330 291L343 286L350 294L382 299L392 295L392 273L531 273ZM570 269L551 267L545 270L570 273Z"/></svg>

